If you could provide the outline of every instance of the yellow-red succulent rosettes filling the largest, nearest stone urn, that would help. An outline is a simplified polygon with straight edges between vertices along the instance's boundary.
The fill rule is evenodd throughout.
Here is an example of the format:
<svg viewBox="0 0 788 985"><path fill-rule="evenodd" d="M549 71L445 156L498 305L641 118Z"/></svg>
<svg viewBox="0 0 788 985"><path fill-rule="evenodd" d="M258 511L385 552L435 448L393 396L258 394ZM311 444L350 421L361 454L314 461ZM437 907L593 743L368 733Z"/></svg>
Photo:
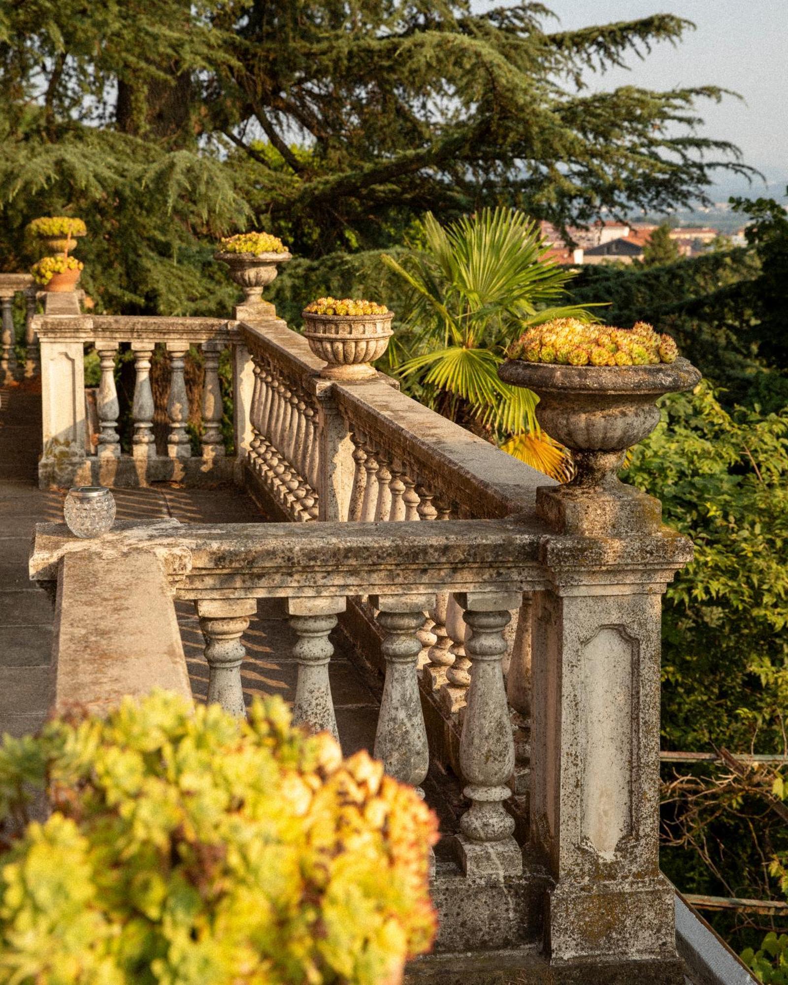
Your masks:
<svg viewBox="0 0 788 985"><path fill-rule="evenodd" d="M556 318L533 326L506 350L510 360L584 366L656 365L679 355L669 335L658 335L647 322L630 329Z"/></svg>

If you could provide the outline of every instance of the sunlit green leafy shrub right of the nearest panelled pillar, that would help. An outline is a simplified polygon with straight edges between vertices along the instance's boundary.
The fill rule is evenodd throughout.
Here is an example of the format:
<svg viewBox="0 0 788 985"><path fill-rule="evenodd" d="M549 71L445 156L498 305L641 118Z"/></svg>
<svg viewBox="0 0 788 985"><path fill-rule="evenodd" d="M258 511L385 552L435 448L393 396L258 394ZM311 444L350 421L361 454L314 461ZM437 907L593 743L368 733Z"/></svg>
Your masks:
<svg viewBox="0 0 788 985"><path fill-rule="evenodd" d="M662 403L625 474L662 500L695 557L663 609L666 747L783 751L788 708L788 413L720 407L710 388Z"/></svg>

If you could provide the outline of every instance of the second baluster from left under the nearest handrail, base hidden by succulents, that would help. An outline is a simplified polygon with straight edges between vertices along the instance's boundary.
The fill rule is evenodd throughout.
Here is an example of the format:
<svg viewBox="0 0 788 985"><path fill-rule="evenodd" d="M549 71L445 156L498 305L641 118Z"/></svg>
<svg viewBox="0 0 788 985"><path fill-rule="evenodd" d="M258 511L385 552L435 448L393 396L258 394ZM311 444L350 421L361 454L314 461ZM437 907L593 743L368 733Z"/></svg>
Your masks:
<svg viewBox="0 0 788 985"><path fill-rule="evenodd" d="M345 612L342 598L288 599L290 624L298 637L293 655L298 664L296 702L293 721L310 732L330 732L339 740L334 699L328 677L328 665L334 654L328 634L337 624L337 615Z"/></svg>

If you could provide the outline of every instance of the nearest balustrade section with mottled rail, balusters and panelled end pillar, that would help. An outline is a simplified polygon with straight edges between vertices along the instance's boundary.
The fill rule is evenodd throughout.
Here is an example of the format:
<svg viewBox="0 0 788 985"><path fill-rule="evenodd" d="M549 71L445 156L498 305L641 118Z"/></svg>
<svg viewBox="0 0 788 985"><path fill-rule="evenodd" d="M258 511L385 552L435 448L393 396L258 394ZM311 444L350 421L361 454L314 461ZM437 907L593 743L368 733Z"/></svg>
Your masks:
<svg viewBox="0 0 788 985"><path fill-rule="evenodd" d="M285 599L296 633L296 719L335 735L329 633L348 597L368 593L385 658L374 753L415 786L431 753L419 633L436 594L449 591L473 631L459 752L470 807L453 837L463 875L438 872L433 883L444 933L452 933L459 899L473 907L480 894L500 892L505 905L498 901L494 925L464 925L463 947L512 947L545 924L557 961L625 949L670 963L673 888L659 873L657 838L660 594L691 557L686 538L662 530L589 541L504 518L397 527L159 521L118 524L86 542L62 524L40 524L31 575L58 579L62 597L77 556L95 565L139 554L158 559L171 595L194 602L209 699L236 714L243 714L240 637L257 599ZM515 750L502 673L503 631L523 593L535 608L525 855L504 806ZM609 914L602 929L600 911Z"/></svg>

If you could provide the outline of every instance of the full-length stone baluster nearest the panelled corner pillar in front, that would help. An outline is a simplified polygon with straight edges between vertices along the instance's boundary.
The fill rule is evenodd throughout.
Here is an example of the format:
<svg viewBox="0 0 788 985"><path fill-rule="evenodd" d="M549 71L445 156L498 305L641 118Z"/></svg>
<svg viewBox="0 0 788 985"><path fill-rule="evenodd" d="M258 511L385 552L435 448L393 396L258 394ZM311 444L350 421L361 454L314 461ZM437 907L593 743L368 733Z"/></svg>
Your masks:
<svg viewBox="0 0 788 985"><path fill-rule="evenodd" d="M513 593L459 593L471 628L466 649L471 685L460 740L460 766L471 808L460 819L457 845L467 876L502 878L522 873L522 853L512 837L514 819L503 807L514 769L514 743L503 685L502 630L509 610L520 604Z"/></svg>

